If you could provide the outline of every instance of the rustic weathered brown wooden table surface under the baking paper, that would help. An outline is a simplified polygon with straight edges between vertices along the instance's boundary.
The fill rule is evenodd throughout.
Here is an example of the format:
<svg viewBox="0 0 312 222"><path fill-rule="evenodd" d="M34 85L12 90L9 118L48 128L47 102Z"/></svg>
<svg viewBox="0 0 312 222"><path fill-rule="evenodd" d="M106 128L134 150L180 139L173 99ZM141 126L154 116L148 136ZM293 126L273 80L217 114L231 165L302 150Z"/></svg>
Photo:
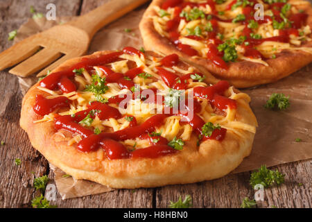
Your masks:
<svg viewBox="0 0 312 222"><path fill-rule="evenodd" d="M57 16L80 15L96 8L108 0L1 0L0 1L0 51L12 45L8 33L19 28L31 17L30 7L45 12L48 3L55 3ZM31 146L28 136L19 127L21 89L18 79L0 71L0 207L31 207L31 200L39 191L33 188L33 179L49 174L53 182L53 171L49 164ZM15 158L21 165L15 165ZM311 207L311 160L293 162L272 167L286 176L280 187L265 190L265 200L257 207ZM58 194L52 201L58 207L167 207L170 200L190 194L194 207L240 207L241 200L253 198L254 190L249 185L251 172L232 174L209 182L190 185L175 185L154 189L119 189L105 194L62 200ZM298 184L302 183L302 186Z"/></svg>

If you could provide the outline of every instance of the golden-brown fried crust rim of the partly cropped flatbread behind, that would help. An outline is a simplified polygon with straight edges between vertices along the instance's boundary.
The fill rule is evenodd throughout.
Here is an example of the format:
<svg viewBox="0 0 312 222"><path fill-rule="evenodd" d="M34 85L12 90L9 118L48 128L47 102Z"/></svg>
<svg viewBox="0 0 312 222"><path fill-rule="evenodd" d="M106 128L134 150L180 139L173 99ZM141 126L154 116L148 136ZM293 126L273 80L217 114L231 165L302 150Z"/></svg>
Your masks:
<svg viewBox="0 0 312 222"><path fill-rule="evenodd" d="M308 65L312 62L312 55L303 51L282 51L276 59L266 60L268 67L256 62L240 61L229 62L229 69L221 69L214 65L206 58L192 58L185 53L177 50L166 38L162 37L155 31L153 21L150 17L157 15L154 6L162 6L165 0L154 0L146 10L139 24L141 36L144 40L144 46L151 51L159 51L166 55L176 53L180 58L189 64L197 67L204 74L211 76L213 74L216 78L229 81L232 85L238 88L252 87L254 85L261 85L265 83L272 83L281 78L289 76L298 69ZM307 24L312 28L312 8L306 4L298 6L298 8L305 10L309 15ZM312 46L312 42L307 42L302 46ZM211 72L211 74L209 74ZM216 83L216 79L212 79L212 83Z"/></svg>

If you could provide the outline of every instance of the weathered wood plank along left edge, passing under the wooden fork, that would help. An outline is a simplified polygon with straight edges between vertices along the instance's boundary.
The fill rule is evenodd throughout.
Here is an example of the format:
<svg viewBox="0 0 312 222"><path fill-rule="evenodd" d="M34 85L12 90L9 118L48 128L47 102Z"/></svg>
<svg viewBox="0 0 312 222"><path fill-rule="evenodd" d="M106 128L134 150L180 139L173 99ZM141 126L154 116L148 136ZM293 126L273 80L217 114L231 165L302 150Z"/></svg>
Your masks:
<svg viewBox="0 0 312 222"><path fill-rule="evenodd" d="M8 33L32 16L30 7L45 12L48 3L55 3L57 13L76 15L80 1L0 1L0 51L12 44L7 40ZM0 207L30 207L31 200L39 195L33 189L33 178L49 173L48 162L19 127L22 95L17 77L8 74L8 69L0 75L0 139L6 143L0 148ZM15 158L21 160L19 167Z"/></svg>

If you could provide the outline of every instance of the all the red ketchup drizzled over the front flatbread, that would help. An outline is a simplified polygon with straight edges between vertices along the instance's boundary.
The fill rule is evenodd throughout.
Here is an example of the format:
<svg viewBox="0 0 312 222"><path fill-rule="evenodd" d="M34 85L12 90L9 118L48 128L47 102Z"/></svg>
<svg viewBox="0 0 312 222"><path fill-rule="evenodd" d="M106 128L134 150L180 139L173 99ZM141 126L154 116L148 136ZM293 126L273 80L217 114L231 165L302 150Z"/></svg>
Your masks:
<svg viewBox="0 0 312 222"><path fill-rule="evenodd" d="M136 54L141 55L140 51L134 49L132 47L125 47L123 49L123 53L128 54ZM60 89L62 93L68 93L76 91L76 85L70 80L74 76L72 71L73 68L85 67L85 69L91 69L91 66L97 66L103 74L105 75L105 80L107 83L118 83L121 88L128 88L134 85L132 79L135 78L138 74L143 72L142 67L135 67L133 69L128 70L125 74L116 73L112 71L112 69L105 66L108 62L119 60L119 56L122 53L110 53L105 56L100 56L96 59L84 59L78 65L71 67L65 71L59 71L53 73L44 80L40 82L42 87L46 87L49 89ZM98 62L98 63L97 63ZM179 58L177 55L172 54L162 58L161 64L165 67L172 67L177 65L179 62ZM173 89L187 89L187 84L191 80L192 75L198 78L202 78L204 75L200 73L191 73L183 76L178 76L177 74L173 74L171 71L167 71L162 67L157 67L157 71L159 76L162 77L164 83ZM193 80L196 81L196 80ZM216 85L212 85L210 87L196 87L194 88L195 96L208 99L211 105L218 108L219 110L224 110L226 108L236 108L236 102L232 99L228 99L223 96L223 93L226 89L229 88L229 83L226 81L220 81ZM132 92L130 93L130 99L135 99L136 94L139 94L142 101L146 103L150 103L150 94L148 94L148 90L154 92L155 101L160 101L161 104L164 103L164 96L158 95L156 93L157 89L143 89L140 92ZM157 98L161 96L161 99ZM119 98L119 96L112 97L108 99L109 103L119 104L123 102L124 98ZM202 141L206 139L216 139L222 141L225 137L226 130L224 128L216 129L213 131L210 137L202 135L202 126L205 125L205 121L203 121L199 116L198 112L201 110L201 105L198 101L194 101L193 107L189 107L188 101L185 104L185 110L187 113L179 112L177 114L173 114L172 112L169 114L155 114L152 117L148 118L141 125L137 125L137 119L130 115L123 116L118 109L107 105L105 103L100 103L98 101L94 101L87 105L87 110L83 110L80 112L76 112L73 115L64 115L55 117L54 127L56 130L67 130L70 133L76 133L83 137L83 139L78 142L77 149L81 152L92 152L96 151L98 148L103 148L106 153L107 159L116 160L116 159L125 159L125 158L139 158L139 157L148 157L155 158L162 155L168 155L172 153L177 153L178 151L168 146L168 140L159 135L153 135L151 133L155 132L156 128L162 126L164 120L167 117L171 117L172 115L178 115L182 117L182 120L185 123L188 123L197 135L201 135ZM42 95L37 95L36 103L33 110L40 115L49 114L54 112L58 108L68 108L71 101L67 99L65 96L59 96L55 99L46 99ZM193 118L189 118L189 112L193 112ZM99 133L95 134L94 130L92 130L91 126L82 126L80 121L85 118L94 119L98 117L100 120L105 119L121 119L125 118L126 121L129 121L129 126L124 128L123 130L118 130L114 133ZM92 120L91 120L92 121ZM181 121L181 124L184 123ZM150 146L147 148L139 148L135 151L128 150L121 141L125 141L126 139L148 139Z"/></svg>

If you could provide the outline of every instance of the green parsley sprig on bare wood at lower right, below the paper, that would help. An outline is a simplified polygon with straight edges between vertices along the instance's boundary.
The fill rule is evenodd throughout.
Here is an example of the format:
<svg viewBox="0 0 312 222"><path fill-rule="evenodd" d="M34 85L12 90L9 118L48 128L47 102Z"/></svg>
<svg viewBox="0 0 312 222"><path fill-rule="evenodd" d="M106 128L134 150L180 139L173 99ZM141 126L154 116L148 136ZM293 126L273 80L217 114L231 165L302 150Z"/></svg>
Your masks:
<svg viewBox="0 0 312 222"><path fill-rule="evenodd" d="M266 165L262 165L259 171L254 171L250 176L250 185L261 184L263 187L270 187L273 184L281 185L284 183L284 175L279 171L271 171L266 168Z"/></svg>

